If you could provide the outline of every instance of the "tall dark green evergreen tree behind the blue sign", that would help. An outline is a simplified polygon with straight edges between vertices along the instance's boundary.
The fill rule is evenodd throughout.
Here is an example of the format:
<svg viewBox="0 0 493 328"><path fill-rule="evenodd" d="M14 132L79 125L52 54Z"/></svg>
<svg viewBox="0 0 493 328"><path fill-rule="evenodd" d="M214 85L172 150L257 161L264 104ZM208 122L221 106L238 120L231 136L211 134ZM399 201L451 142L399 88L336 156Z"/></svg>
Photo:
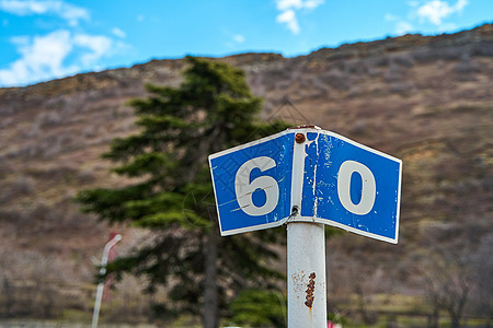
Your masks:
<svg viewBox="0 0 493 328"><path fill-rule="evenodd" d="M265 245L272 231L219 237L207 156L286 128L261 122L262 107L242 70L187 57L179 87L147 85L148 98L130 102L138 134L113 140L103 156L113 172L137 178L121 188L82 190L85 212L108 222L131 222L158 237L108 271L148 277L149 290L164 285L174 311L202 313L217 327L219 309L244 288L266 288L278 272L266 266L276 254Z"/></svg>

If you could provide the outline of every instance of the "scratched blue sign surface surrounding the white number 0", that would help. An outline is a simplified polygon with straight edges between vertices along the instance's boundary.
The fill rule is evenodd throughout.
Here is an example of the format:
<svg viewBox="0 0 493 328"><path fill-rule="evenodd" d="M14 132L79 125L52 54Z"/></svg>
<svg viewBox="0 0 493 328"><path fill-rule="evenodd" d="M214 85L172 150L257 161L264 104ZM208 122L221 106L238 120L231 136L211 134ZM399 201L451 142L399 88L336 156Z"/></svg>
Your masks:
<svg viewBox="0 0 493 328"><path fill-rule="evenodd" d="M400 162L356 147L332 136L309 132L306 145L301 215L330 220L364 233L397 238ZM376 180L376 199L365 215L347 211L337 196L337 174L345 161L367 166ZM353 174L351 199L358 203L362 179Z"/></svg>

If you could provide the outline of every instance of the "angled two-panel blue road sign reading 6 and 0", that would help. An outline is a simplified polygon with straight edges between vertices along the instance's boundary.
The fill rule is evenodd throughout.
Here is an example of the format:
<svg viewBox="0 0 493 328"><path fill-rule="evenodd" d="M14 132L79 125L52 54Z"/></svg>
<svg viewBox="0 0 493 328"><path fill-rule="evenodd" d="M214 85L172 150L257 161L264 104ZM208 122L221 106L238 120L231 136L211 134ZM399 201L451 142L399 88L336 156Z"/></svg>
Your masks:
<svg viewBox="0 0 493 328"><path fill-rule="evenodd" d="M301 144L295 134L303 133ZM296 147L295 147L296 145ZM397 243L402 162L320 129L287 130L209 156L221 235L320 222Z"/></svg>

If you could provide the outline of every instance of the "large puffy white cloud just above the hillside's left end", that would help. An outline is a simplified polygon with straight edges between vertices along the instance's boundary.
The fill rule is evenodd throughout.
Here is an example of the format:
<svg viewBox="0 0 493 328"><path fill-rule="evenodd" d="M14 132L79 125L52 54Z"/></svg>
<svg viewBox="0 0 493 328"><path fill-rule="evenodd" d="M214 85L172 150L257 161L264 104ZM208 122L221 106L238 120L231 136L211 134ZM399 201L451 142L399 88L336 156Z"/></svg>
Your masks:
<svg viewBox="0 0 493 328"><path fill-rule="evenodd" d="M21 57L8 69L0 70L0 84L5 86L25 85L93 69L92 66L98 65L113 45L105 36L73 35L67 30L34 38L14 37L11 42Z"/></svg>

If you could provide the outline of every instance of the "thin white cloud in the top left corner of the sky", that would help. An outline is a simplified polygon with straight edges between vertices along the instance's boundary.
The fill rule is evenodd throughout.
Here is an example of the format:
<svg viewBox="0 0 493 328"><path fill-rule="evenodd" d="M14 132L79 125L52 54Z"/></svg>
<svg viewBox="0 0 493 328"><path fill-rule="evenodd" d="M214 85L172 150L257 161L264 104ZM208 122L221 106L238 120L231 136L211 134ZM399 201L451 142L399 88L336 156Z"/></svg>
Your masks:
<svg viewBox="0 0 493 328"><path fill-rule="evenodd" d="M66 20L70 26L77 26L79 20L90 17L87 9L61 0L1 0L0 10L20 16L53 14Z"/></svg>

